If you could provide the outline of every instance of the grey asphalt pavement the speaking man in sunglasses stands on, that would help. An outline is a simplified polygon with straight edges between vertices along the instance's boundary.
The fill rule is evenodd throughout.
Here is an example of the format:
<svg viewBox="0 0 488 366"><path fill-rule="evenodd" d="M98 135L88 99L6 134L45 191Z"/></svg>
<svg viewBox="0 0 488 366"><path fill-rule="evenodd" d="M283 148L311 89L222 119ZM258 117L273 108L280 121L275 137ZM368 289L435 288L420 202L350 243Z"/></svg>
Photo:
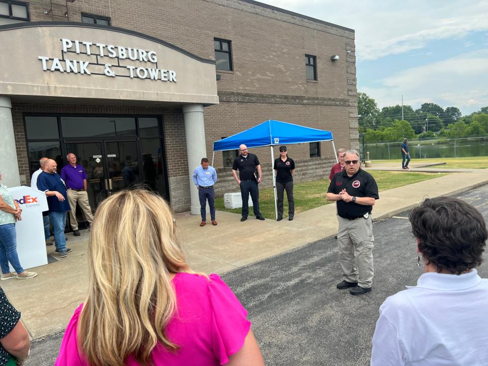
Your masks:
<svg viewBox="0 0 488 366"><path fill-rule="evenodd" d="M457 197L488 218L488 185ZM249 312L266 365L369 364L381 303L405 285L415 285L423 272L416 265L407 216L374 224L375 278L373 291L365 295L335 288L342 279L333 236L224 273ZM277 239L286 241L286 231ZM488 277L486 261L478 273ZM33 341L25 364L54 364L61 338L56 333Z"/></svg>

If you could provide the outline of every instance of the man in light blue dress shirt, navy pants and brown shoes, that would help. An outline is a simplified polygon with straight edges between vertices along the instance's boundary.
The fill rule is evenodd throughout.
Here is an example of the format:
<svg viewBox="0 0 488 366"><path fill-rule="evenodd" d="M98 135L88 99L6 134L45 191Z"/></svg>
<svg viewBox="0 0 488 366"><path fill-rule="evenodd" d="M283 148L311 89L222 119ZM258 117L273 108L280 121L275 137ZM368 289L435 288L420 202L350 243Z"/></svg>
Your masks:
<svg viewBox="0 0 488 366"><path fill-rule="evenodd" d="M205 226L207 212L205 209L207 200L210 207L210 219L212 225L217 225L215 221L215 192L214 184L217 181L216 170L208 165L208 159L202 158L201 165L195 168L193 172L193 182L197 186L198 198L200 199L200 214L202 215L202 222L200 226Z"/></svg>

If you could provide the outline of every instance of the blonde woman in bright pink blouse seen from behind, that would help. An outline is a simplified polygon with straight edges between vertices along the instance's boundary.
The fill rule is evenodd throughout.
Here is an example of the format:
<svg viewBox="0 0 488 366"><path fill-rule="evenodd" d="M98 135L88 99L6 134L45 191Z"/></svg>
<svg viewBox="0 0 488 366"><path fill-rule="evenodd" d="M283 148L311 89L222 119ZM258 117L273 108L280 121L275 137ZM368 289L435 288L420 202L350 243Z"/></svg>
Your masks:
<svg viewBox="0 0 488 366"><path fill-rule="evenodd" d="M88 295L56 366L264 365L251 323L218 275L188 267L169 206L125 190L97 209Z"/></svg>

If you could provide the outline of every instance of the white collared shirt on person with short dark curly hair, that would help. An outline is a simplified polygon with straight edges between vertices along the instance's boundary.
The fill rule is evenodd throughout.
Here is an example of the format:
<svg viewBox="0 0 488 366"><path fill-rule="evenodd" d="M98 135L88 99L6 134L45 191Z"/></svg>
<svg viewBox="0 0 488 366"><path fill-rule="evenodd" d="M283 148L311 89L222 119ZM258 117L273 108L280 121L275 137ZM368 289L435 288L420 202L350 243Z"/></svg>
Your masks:
<svg viewBox="0 0 488 366"><path fill-rule="evenodd" d="M488 365L488 280L424 273L380 307L371 366Z"/></svg>

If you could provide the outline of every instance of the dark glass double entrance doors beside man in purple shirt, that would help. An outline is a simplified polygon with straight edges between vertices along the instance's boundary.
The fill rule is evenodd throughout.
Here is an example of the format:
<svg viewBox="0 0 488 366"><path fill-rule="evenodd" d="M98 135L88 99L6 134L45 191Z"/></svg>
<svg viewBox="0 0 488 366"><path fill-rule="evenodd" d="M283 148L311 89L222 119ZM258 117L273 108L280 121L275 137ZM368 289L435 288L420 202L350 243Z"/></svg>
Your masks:
<svg viewBox="0 0 488 366"><path fill-rule="evenodd" d="M76 155L86 170L88 199L92 209L104 198L141 182L137 141L67 142L68 153Z"/></svg>

